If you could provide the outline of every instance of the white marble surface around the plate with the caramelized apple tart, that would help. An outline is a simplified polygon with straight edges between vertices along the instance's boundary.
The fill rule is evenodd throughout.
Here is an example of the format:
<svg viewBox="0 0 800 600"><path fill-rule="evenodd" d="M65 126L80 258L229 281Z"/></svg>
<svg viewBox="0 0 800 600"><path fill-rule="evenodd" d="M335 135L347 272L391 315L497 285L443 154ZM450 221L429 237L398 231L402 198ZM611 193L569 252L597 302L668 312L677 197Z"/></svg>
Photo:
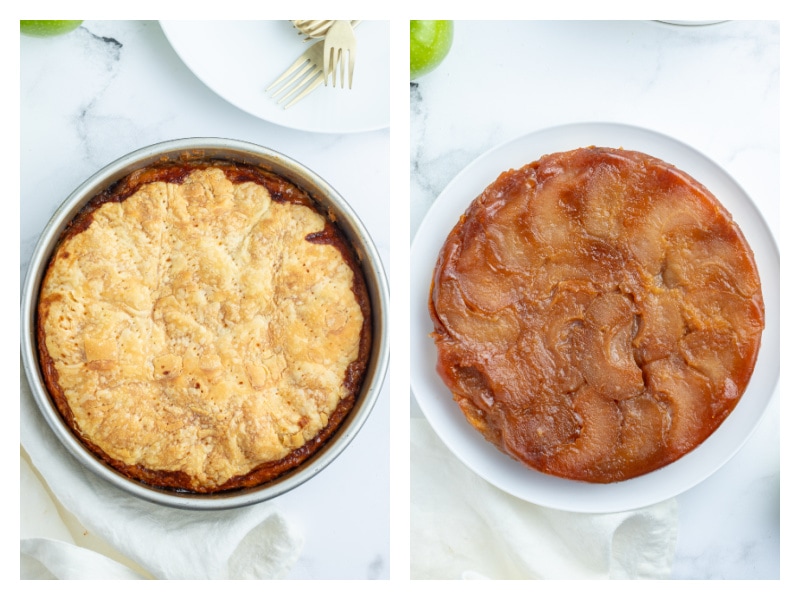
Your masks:
<svg viewBox="0 0 800 600"><path fill-rule="evenodd" d="M487 150L552 125L603 121L654 129L711 157L777 239L779 36L777 22L457 21L445 62L411 85L412 238L448 182ZM780 577L778 397L741 451L678 497L673 578ZM420 414L413 398L411 413Z"/></svg>

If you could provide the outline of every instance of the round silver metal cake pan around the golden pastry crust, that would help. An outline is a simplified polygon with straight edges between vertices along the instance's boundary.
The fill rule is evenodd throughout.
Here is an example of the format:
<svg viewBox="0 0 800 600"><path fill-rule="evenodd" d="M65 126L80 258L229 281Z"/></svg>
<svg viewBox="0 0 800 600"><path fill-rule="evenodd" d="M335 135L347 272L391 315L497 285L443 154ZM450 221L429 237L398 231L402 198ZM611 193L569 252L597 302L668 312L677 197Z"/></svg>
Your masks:
<svg viewBox="0 0 800 600"><path fill-rule="evenodd" d="M255 165L285 177L306 191L323 214L345 233L361 260L372 306L372 349L364 383L353 409L337 432L296 469L249 489L195 494L165 491L131 481L90 453L72 434L44 385L36 344L36 306L47 263L61 232L96 194L129 173L176 160L230 160ZM319 175L299 162L256 144L222 138L188 138L136 150L104 167L81 184L47 223L31 257L21 306L22 360L33 397L55 435L83 466L105 481L139 498L175 508L219 510L262 502L311 479L327 467L356 436L372 411L386 375L388 346L388 283L378 251L366 228L345 199Z"/></svg>

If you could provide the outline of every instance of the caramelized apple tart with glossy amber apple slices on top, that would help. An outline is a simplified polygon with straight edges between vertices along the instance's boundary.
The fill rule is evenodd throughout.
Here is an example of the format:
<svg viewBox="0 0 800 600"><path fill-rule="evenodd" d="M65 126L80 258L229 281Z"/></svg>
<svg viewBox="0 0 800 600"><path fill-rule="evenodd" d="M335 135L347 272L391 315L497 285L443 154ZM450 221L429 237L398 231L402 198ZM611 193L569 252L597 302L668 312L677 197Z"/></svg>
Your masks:
<svg viewBox="0 0 800 600"><path fill-rule="evenodd" d="M683 456L741 398L764 305L751 249L700 183L581 148L503 173L441 249L437 370L501 451L614 482Z"/></svg>

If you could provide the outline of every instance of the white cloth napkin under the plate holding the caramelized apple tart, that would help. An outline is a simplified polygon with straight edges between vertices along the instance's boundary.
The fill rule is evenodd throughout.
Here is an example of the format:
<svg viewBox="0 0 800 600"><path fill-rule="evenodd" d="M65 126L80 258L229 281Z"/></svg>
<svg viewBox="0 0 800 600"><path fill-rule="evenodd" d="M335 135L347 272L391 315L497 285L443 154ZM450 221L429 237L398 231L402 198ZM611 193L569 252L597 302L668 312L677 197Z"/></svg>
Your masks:
<svg viewBox="0 0 800 600"><path fill-rule="evenodd" d="M411 419L412 579L667 578L677 521L675 499L601 515L519 500Z"/></svg>

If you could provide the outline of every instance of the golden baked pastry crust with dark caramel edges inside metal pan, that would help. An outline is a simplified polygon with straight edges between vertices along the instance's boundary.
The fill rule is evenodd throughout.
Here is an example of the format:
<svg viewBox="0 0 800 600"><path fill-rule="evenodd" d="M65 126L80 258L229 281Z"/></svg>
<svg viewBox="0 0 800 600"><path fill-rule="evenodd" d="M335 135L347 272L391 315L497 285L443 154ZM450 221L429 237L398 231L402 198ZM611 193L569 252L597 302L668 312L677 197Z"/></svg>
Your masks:
<svg viewBox="0 0 800 600"><path fill-rule="evenodd" d="M39 296L65 421L138 481L197 493L296 467L352 408L370 304L302 190L230 163L138 171L66 230Z"/></svg>

